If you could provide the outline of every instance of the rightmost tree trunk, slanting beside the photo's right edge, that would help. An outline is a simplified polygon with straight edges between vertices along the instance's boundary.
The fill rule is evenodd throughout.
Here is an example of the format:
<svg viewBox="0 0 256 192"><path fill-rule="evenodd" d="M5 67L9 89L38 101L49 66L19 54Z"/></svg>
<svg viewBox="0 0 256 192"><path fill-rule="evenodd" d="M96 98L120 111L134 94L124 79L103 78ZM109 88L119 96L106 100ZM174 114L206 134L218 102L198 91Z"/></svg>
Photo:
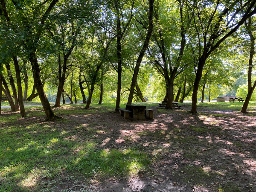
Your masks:
<svg viewBox="0 0 256 192"><path fill-rule="evenodd" d="M253 56L255 55L255 37L253 35L252 29L251 29L251 18L248 19L247 22L245 22L245 26L247 29L247 32L250 36L250 55L249 55L249 67L248 67L248 93L244 100L244 105L241 109L241 113L247 113L247 107L250 102L250 98L253 94L253 91L256 87L256 81L254 82L252 86L252 70L253 70Z"/></svg>

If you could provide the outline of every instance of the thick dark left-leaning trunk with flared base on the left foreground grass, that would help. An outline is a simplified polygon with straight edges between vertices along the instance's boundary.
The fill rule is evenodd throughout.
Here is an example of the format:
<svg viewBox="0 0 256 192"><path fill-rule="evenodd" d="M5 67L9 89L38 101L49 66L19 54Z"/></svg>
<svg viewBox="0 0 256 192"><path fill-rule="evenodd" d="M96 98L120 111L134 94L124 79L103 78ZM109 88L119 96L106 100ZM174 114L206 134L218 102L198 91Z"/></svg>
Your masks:
<svg viewBox="0 0 256 192"><path fill-rule="evenodd" d="M41 100L41 104L43 105L44 112L46 114L46 121L53 120L59 118L55 115L55 113L52 111L51 105L47 99L47 96L44 92L44 85L40 78L40 67L36 58L35 50L29 54L29 61L31 62L32 66L32 72L35 82L35 87L38 91L38 96Z"/></svg>

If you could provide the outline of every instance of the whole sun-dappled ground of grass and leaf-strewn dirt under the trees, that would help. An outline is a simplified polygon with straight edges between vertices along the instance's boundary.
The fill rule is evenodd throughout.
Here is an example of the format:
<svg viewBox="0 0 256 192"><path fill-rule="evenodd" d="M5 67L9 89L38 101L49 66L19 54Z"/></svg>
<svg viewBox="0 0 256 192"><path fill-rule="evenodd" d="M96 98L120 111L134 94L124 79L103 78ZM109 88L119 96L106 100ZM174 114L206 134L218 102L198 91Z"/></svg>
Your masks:
<svg viewBox="0 0 256 192"><path fill-rule="evenodd" d="M209 106L213 105L221 106ZM209 191L218 186L223 191L251 189L246 184L256 173L254 116L161 109L154 119L139 121L109 113L115 105L109 106L92 105L93 112L83 105L55 109L61 114L63 110L64 119L52 122L35 121L44 119L41 112L35 113L40 117L31 113L27 120L17 120L17 114L2 117L0 182L9 186L0 185L0 191L10 186L9 191L18 192L56 191L55 186L63 191L67 185L71 191L77 185L74 178L80 176L76 182L122 182L134 191L147 191L150 182L172 187L178 183L177 187L191 186L195 191L211 189L209 183L214 183ZM235 187L221 177L230 178ZM135 180L138 186L132 184Z"/></svg>

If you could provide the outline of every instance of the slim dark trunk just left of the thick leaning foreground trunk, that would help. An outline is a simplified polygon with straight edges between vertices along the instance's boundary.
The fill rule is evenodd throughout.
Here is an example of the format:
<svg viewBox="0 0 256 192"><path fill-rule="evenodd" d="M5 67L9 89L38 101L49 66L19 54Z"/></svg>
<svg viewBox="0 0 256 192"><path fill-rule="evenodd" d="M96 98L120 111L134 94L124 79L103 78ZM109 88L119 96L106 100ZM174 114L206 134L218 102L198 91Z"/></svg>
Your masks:
<svg viewBox="0 0 256 192"><path fill-rule="evenodd" d="M20 78L20 67L19 67L17 57L13 56L12 60L13 60L15 72L16 72L16 80L17 80L17 88L18 88L18 102L20 105L20 116L24 117L24 116L26 116L26 111L25 111L24 104L23 104L23 93L22 93L22 84L21 84L21 78Z"/></svg>

